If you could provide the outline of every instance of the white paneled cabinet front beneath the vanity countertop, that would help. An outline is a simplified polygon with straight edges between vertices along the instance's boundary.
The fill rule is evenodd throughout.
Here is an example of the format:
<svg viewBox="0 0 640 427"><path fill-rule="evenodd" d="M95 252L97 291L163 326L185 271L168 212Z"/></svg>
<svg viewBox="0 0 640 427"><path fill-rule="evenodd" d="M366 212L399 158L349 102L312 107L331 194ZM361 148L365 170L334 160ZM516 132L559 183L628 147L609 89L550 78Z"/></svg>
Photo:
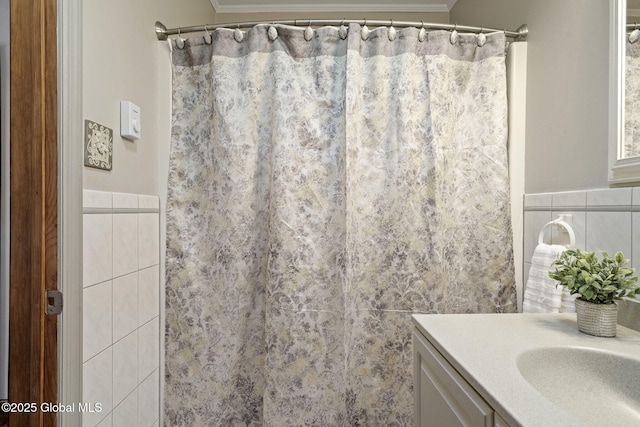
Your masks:
<svg viewBox="0 0 640 427"><path fill-rule="evenodd" d="M493 427L493 409L417 329L414 416L419 427Z"/></svg>

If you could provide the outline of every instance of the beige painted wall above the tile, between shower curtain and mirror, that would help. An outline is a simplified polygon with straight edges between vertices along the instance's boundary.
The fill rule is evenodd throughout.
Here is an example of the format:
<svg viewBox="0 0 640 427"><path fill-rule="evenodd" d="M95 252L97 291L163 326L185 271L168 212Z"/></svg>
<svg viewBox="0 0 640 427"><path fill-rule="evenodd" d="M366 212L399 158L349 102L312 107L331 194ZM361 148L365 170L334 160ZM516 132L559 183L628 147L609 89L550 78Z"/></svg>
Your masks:
<svg viewBox="0 0 640 427"><path fill-rule="evenodd" d="M451 21L529 26L525 192L608 187L609 2L458 0Z"/></svg>

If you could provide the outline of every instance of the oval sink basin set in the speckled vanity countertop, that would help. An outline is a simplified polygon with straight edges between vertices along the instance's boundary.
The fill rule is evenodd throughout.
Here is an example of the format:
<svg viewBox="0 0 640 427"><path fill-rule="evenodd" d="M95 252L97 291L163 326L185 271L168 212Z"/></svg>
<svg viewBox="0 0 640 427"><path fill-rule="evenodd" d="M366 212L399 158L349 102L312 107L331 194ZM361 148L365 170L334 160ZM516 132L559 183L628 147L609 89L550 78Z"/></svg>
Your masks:
<svg viewBox="0 0 640 427"><path fill-rule="evenodd" d="M585 425L640 426L640 359L546 347L520 354L517 366L540 394Z"/></svg>

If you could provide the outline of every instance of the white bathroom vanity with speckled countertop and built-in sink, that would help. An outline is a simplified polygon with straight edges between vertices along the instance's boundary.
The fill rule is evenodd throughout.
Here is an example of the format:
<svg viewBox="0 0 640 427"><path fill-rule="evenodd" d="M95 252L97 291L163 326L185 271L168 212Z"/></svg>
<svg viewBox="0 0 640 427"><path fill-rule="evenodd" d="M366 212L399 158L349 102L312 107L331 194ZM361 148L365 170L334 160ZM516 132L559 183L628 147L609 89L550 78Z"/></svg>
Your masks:
<svg viewBox="0 0 640 427"><path fill-rule="evenodd" d="M614 338L593 337L578 330L575 313L414 314L412 321L418 427L639 425L640 381L631 375L640 372L637 331L618 325ZM565 372L576 363L582 375ZM586 387L588 370L600 365L625 374L596 368L597 385ZM587 389L596 394L572 398Z"/></svg>

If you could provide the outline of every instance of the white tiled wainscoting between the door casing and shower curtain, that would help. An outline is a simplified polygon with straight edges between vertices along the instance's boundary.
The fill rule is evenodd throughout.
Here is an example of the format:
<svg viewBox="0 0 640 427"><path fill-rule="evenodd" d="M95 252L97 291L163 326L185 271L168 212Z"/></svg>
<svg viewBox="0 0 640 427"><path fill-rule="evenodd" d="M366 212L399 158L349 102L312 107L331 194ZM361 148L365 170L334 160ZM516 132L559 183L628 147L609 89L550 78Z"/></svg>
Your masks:
<svg viewBox="0 0 640 427"><path fill-rule="evenodd" d="M83 196L83 426L158 425L159 199Z"/></svg>

